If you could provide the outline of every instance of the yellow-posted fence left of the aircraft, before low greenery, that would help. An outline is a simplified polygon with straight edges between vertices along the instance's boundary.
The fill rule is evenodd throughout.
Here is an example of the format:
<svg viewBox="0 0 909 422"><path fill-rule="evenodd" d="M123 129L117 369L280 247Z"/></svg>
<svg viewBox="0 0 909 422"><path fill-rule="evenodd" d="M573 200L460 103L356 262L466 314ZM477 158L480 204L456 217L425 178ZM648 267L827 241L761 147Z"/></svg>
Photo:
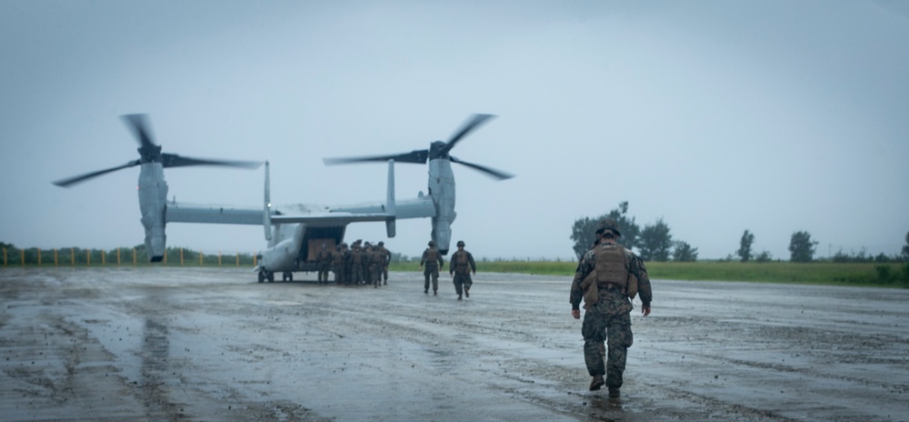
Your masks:
<svg viewBox="0 0 909 422"><path fill-rule="evenodd" d="M185 248L171 248L165 251L165 256L160 265L168 265L168 256L178 258L172 265L179 266L247 266L257 264L256 254L240 254L224 256L218 251L216 256L206 256L202 251L193 251ZM233 258L233 259L232 259ZM94 261L93 261L94 260ZM232 262L233 261L233 262ZM105 249L64 248L42 251L40 247L30 249L3 248L3 266L138 266L148 265L148 258L144 253L136 251L135 247L118 247L113 251Z"/></svg>

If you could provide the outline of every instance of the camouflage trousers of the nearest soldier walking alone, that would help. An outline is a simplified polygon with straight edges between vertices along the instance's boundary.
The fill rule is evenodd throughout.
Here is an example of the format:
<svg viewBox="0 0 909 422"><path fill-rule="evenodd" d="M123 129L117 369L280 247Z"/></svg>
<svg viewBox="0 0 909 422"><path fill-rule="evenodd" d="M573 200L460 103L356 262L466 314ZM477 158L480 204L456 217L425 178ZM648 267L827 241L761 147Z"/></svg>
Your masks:
<svg viewBox="0 0 909 422"><path fill-rule="evenodd" d="M584 312L581 326L584 336L584 363L591 377L606 376L606 387L622 387L625 357L634 343L631 333L631 313L604 315L592 308ZM606 363L603 363L603 342L606 342Z"/></svg>

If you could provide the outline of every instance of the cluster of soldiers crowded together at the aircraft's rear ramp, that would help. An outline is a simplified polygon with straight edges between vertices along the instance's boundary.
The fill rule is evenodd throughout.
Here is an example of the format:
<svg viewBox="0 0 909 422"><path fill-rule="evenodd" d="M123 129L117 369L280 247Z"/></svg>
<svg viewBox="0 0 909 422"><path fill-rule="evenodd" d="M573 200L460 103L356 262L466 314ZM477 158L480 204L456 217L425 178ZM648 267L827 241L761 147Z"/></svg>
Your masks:
<svg viewBox="0 0 909 422"><path fill-rule="evenodd" d="M385 242L371 245L357 239L348 248L346 243L332 251L323 245L316 256L319 266L319 284L328 284L328 272L335 273L335 284L339 286L388 284L388 263L392 253L385 249Z"/></svg>

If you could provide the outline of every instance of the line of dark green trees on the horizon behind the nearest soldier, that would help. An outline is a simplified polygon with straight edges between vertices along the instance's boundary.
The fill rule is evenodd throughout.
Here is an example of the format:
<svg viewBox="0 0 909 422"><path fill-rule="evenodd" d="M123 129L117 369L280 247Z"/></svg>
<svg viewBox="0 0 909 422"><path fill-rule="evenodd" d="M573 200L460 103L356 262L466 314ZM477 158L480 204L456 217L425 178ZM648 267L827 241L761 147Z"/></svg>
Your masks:
<svg viewBox="0 0 909 422"><path fill-rule="evenodd" d="M697 247L689 245L684 240L674 239L672 230L663 217L657 218L653 224L646 224L644 227L638 226L634 216L628 215L628 201L620 202L617 207L604 215L581 217L574 220L570 238L574 241L574 255L579 260L594 245L594 232L597 226L600 226L601 222L608 217L614 218L622 230L622 236L619 237L618 243L629 249L634 249L644 261L697 261ZM741 262L768 262L774 259L770 252L764 250L756 253L752 246L754 246L754 233L745 229L739 240L739 248L735 251L737 260ZM817 241L813 240L811 234L807 231L793 233L789 240L789 260L792 262L813 261L816 246ZM735 257L730 254L724 260L732 261L734 259ZM834 262L885 263L909 261L909 233L906 233L906 245L903 246L901 255L886 256L880 254L872 257L865 256L864 252L861 252L857 255L849 256L840 251L832 259Z"/></svg>

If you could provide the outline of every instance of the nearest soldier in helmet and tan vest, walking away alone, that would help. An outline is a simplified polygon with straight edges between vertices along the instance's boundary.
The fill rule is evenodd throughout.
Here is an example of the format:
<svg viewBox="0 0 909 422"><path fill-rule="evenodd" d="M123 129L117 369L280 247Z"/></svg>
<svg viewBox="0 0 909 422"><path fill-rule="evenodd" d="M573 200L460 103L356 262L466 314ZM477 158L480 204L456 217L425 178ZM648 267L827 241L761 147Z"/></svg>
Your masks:
<svg viewBox="0 0 909 422"><path fill-rule="evenodd" d="M615 243L615 239L622 236L615 220L607 218L602 226L599 244L587 251L578 263L569 300L572 316L578 319L580 303L584 299L581 334L584 336L584 363L587 372L594 377L590 389L598 390L605 384L609 387L609 397L619 397L628 347L634 343L631 299L635 293L640 294L642 314L648 316L653 293L641 258ZM607 347L603 346L604 341Z"/></svg>

